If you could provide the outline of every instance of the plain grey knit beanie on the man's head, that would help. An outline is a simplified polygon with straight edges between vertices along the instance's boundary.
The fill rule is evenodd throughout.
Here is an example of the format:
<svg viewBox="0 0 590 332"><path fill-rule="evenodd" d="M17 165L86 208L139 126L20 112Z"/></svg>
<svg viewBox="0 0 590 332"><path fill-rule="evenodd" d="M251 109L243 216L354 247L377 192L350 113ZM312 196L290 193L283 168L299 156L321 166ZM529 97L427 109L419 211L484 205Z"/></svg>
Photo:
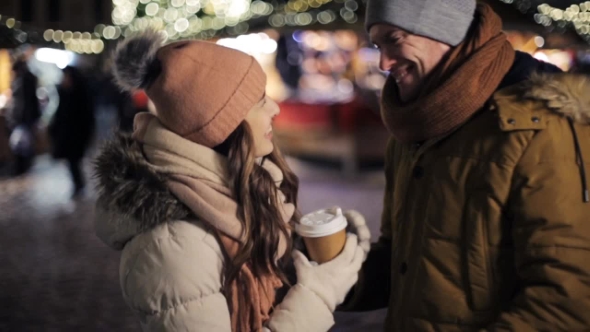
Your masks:
<svg viewBox="0 0 590 332"><path fill-rule="evenodd" d="M387 23L451 46L463 41L476 0L369 0L365 27Z"/></svg>

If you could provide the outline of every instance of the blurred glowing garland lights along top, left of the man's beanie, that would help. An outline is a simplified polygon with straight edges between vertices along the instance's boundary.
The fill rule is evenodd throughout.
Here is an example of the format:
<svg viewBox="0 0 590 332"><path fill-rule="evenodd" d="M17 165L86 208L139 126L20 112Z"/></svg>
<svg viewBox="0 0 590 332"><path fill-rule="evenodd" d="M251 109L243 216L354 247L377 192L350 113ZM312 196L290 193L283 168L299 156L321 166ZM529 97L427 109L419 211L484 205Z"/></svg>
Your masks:
<svg viewBox="0 0 590 332"><path fill-rule="evenodd" d="M365 0L289 0L279 4L261 0L113 0L113 25L98 24L93 32L25 29L15 18L4 24L15 42L62 44L80 54L99 54L105 42L124 38L147 28L161 30L167 39L210 39L216 35L241 35L251 24L275 28L329 24L339 18L352 24L358 21L358 1ZM0 24L3 17L0 16Z"/></svg>

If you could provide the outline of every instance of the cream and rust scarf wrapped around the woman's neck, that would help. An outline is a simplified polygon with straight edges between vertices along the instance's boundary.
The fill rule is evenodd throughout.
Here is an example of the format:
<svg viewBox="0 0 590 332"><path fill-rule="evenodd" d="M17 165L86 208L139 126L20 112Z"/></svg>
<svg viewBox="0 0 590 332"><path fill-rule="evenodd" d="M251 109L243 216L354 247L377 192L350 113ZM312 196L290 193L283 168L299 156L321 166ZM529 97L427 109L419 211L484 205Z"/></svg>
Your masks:
<svg viewBox="0 0 590 332"><path fill-rule="evenodd" d="M237 217L238 206L227 176L227 159L174 134L149 113L138 114L134 127L133 138L142 143L146 159L156 171L169 175L170 191L197 217L217 230L225 253L234 258L248 234L242 234L242 224ZM268 160L262 167L280 186L281 170ZM280 191L278 194L282 222L287 223L295 207L285 203ZM277 259L284 255L286 241L280 239ZM261 331L274 305L276 290L282 285L276 275L256 278L250 264L244 264L230 285L232 331Z"/></svg>

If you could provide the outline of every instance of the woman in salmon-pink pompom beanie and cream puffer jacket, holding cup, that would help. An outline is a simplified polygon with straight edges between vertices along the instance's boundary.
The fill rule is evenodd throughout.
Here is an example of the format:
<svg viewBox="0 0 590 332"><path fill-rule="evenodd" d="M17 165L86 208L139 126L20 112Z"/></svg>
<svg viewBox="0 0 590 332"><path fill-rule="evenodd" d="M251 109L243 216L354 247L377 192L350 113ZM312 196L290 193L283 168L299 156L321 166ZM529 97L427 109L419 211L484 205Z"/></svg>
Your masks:
<svg viewBox="0 0 590 332"><path fill-rule="evenodd" d="M122 250L121 288L143 329L327 331L368 237L349 234L322 265L295 250L297 282L275 306L298 180L272 141L279 108L260 65L208 42L161 47L146 32L118 47L115 77L156 108L97 160L97 234Z"/></svg>

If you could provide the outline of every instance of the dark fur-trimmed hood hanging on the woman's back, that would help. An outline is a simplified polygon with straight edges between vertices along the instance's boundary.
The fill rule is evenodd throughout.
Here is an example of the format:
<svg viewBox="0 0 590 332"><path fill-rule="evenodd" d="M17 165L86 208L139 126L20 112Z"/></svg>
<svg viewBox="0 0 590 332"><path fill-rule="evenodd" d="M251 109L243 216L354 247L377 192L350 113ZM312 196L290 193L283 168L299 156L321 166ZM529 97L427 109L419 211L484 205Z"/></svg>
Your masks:
<svg viewBox="0 0 590 332"><path fill-rule="evenodd" d="M107 142L95 164L95 230L107 245L120 250L143 231L192 216L166 187L166 175L152 169L130 136L118 134Z"/></svg>

